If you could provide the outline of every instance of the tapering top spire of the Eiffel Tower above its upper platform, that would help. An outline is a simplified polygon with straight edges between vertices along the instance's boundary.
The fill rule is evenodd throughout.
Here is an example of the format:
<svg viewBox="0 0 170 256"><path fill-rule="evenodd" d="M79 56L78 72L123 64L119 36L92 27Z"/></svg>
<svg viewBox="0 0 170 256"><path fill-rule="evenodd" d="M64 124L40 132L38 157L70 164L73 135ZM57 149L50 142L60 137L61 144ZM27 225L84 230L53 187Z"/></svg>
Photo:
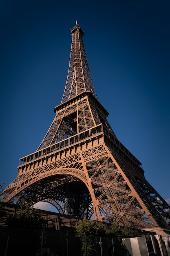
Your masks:
<svg viewBox="0 0 170 256"><path fill-rule="evenodd" d="M97 99L82 37L84 31L77 24L71 29L72 43L66 86L61 103L88 91Z"/></svg>

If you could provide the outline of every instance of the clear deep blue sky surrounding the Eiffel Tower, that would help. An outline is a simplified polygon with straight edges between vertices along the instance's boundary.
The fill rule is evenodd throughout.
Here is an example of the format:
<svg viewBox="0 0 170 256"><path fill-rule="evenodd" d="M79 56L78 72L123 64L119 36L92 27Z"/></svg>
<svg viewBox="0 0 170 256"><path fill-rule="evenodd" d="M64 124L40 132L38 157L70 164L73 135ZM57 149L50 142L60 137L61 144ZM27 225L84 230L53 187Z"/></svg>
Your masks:
<svg viewBox="0 0 170 256"><path fill-rule="evenodd" d="M60 104L75 20L118 139L170 203L170 1L0 1L0 180L40 145Z"/></svg>

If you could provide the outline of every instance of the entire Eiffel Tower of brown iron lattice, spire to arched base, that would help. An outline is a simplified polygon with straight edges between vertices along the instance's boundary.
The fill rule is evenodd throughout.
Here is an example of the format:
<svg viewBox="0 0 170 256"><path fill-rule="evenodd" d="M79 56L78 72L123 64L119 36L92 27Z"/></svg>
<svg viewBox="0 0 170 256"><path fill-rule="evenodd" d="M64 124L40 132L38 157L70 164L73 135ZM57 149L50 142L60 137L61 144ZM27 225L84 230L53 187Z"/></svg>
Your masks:
<svg viewBox="0 0 170 256"><path fill-rule="evenodd" d="M71 35L62 101L38 149L20 158L17 177L1 195L4 202L32 206L44 201L59 213L170 232L170 206L106 119L77 22Z"/></svg>

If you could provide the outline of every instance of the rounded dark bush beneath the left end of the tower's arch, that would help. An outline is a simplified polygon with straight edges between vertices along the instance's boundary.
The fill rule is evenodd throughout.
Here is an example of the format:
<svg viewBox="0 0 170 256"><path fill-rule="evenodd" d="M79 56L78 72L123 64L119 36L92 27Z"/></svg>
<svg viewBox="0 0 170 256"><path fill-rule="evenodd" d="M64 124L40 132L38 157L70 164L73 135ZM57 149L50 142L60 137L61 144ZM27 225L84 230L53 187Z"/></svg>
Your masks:
<svg viewBox="0 0 170 256"><path fill-rule="evenodd" d="M42 229L44 219L38 209L27 206L25 209L21 207L17 213L9 214L6 225L25 229Z"/></svg>

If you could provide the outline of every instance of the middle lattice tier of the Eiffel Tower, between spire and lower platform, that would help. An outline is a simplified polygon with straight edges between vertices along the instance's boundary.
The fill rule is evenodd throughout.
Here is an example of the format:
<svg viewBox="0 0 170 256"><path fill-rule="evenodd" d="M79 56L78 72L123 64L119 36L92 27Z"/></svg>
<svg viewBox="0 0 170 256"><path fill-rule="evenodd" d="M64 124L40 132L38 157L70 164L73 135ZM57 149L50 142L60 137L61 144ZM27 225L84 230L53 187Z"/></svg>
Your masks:
<svg viewBox="0 0 170 256"><path fill-rule="evenodd" d="M85 92L55 108L56 116L37 151L101 123L114 134L106 119L108 113L92 95L89 96Z"/></svg>

